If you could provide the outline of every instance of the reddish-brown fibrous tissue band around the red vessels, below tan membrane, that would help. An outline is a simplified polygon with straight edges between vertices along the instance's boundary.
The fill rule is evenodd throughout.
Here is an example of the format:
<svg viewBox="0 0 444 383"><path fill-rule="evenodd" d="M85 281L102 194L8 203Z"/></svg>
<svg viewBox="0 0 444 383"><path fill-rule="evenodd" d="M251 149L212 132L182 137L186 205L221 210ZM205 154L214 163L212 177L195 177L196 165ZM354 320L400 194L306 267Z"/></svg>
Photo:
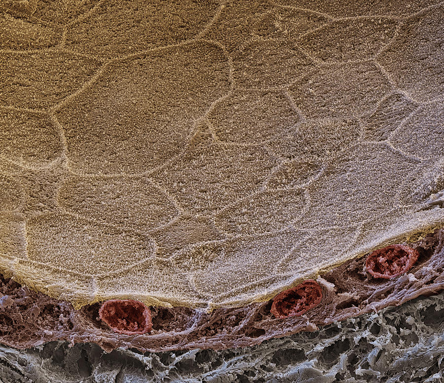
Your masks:
<svg viewBox="0 0 444 383"><path fill-rule="evenodd" d="M279 307L279 295L274 302L221 307L212 312L184 306L150 306L152 328L144 334L116 332L110 328L100 315L101 307L111 305L107 302L103 306L98 303L76 310L71 303L52 299L1 277L0 343L28 348L49 341L69 341L72 345L92 342L107 352L117 347L157 352L259 345L267 339L317 330L333 322L444 290L444 230L436 230L409 243L408 247L418 254L416 263L408 272L392 278L373 278L366 267L367 255L321 274L316 282L306 280L297 285L293 290L301 297L305 294L306 303L311 305L308 310L305 310L308 306L300 305L298 310L305 310L301 315L277 318L272 307L273 304ZM319 299L319 289L322 298L314 306L316 301L307 298L313 298L314 294L315 299ZM142 308L134 305L129 306ZM280 306L281 310L283 307L286 306ZM111 313L108 308L105 311ZM105 316L102 309L102 319ZM116 322L118 318L111 319L111 327L115 327Z"/></svg>

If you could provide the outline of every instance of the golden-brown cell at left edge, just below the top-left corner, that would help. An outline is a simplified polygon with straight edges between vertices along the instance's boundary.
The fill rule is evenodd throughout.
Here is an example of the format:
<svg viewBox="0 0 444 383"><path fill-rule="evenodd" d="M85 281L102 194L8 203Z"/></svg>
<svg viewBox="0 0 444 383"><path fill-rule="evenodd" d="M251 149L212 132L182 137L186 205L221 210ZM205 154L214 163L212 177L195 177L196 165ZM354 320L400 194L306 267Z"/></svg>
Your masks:
<svg viewBox="0 0 444 383"><path fill-rule="evenodd" d="M47 48L57 44L62 33L61 28L0 14L0 49Z"/></svg>

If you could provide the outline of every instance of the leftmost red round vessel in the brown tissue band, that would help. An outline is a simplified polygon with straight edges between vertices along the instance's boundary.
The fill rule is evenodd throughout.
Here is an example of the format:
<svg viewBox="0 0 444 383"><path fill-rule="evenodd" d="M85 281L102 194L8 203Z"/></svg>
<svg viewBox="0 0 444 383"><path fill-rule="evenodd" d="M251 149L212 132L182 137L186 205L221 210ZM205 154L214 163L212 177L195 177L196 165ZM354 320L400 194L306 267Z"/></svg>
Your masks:
<svg viewBox="0 0 444 383"><path fill-rule="evenodd" d="M99 309L99 317L120 334L144 334L151 331L151 312L139 301L111 299Z"/></svg>

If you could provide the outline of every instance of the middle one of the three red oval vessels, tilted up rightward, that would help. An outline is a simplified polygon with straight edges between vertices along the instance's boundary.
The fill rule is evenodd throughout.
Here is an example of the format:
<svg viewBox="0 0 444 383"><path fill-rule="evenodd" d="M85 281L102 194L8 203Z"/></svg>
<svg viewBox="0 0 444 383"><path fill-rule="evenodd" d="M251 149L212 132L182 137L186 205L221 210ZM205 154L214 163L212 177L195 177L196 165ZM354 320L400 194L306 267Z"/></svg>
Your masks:
<svg viewBox="0 0 444 383"><path fill-rule="evenodd" d="M299 316L317 306L321 299L322 289L319 283L313 279L307 279L293 289L285 290L277 295L270 312L276 318Z"/></svg>

